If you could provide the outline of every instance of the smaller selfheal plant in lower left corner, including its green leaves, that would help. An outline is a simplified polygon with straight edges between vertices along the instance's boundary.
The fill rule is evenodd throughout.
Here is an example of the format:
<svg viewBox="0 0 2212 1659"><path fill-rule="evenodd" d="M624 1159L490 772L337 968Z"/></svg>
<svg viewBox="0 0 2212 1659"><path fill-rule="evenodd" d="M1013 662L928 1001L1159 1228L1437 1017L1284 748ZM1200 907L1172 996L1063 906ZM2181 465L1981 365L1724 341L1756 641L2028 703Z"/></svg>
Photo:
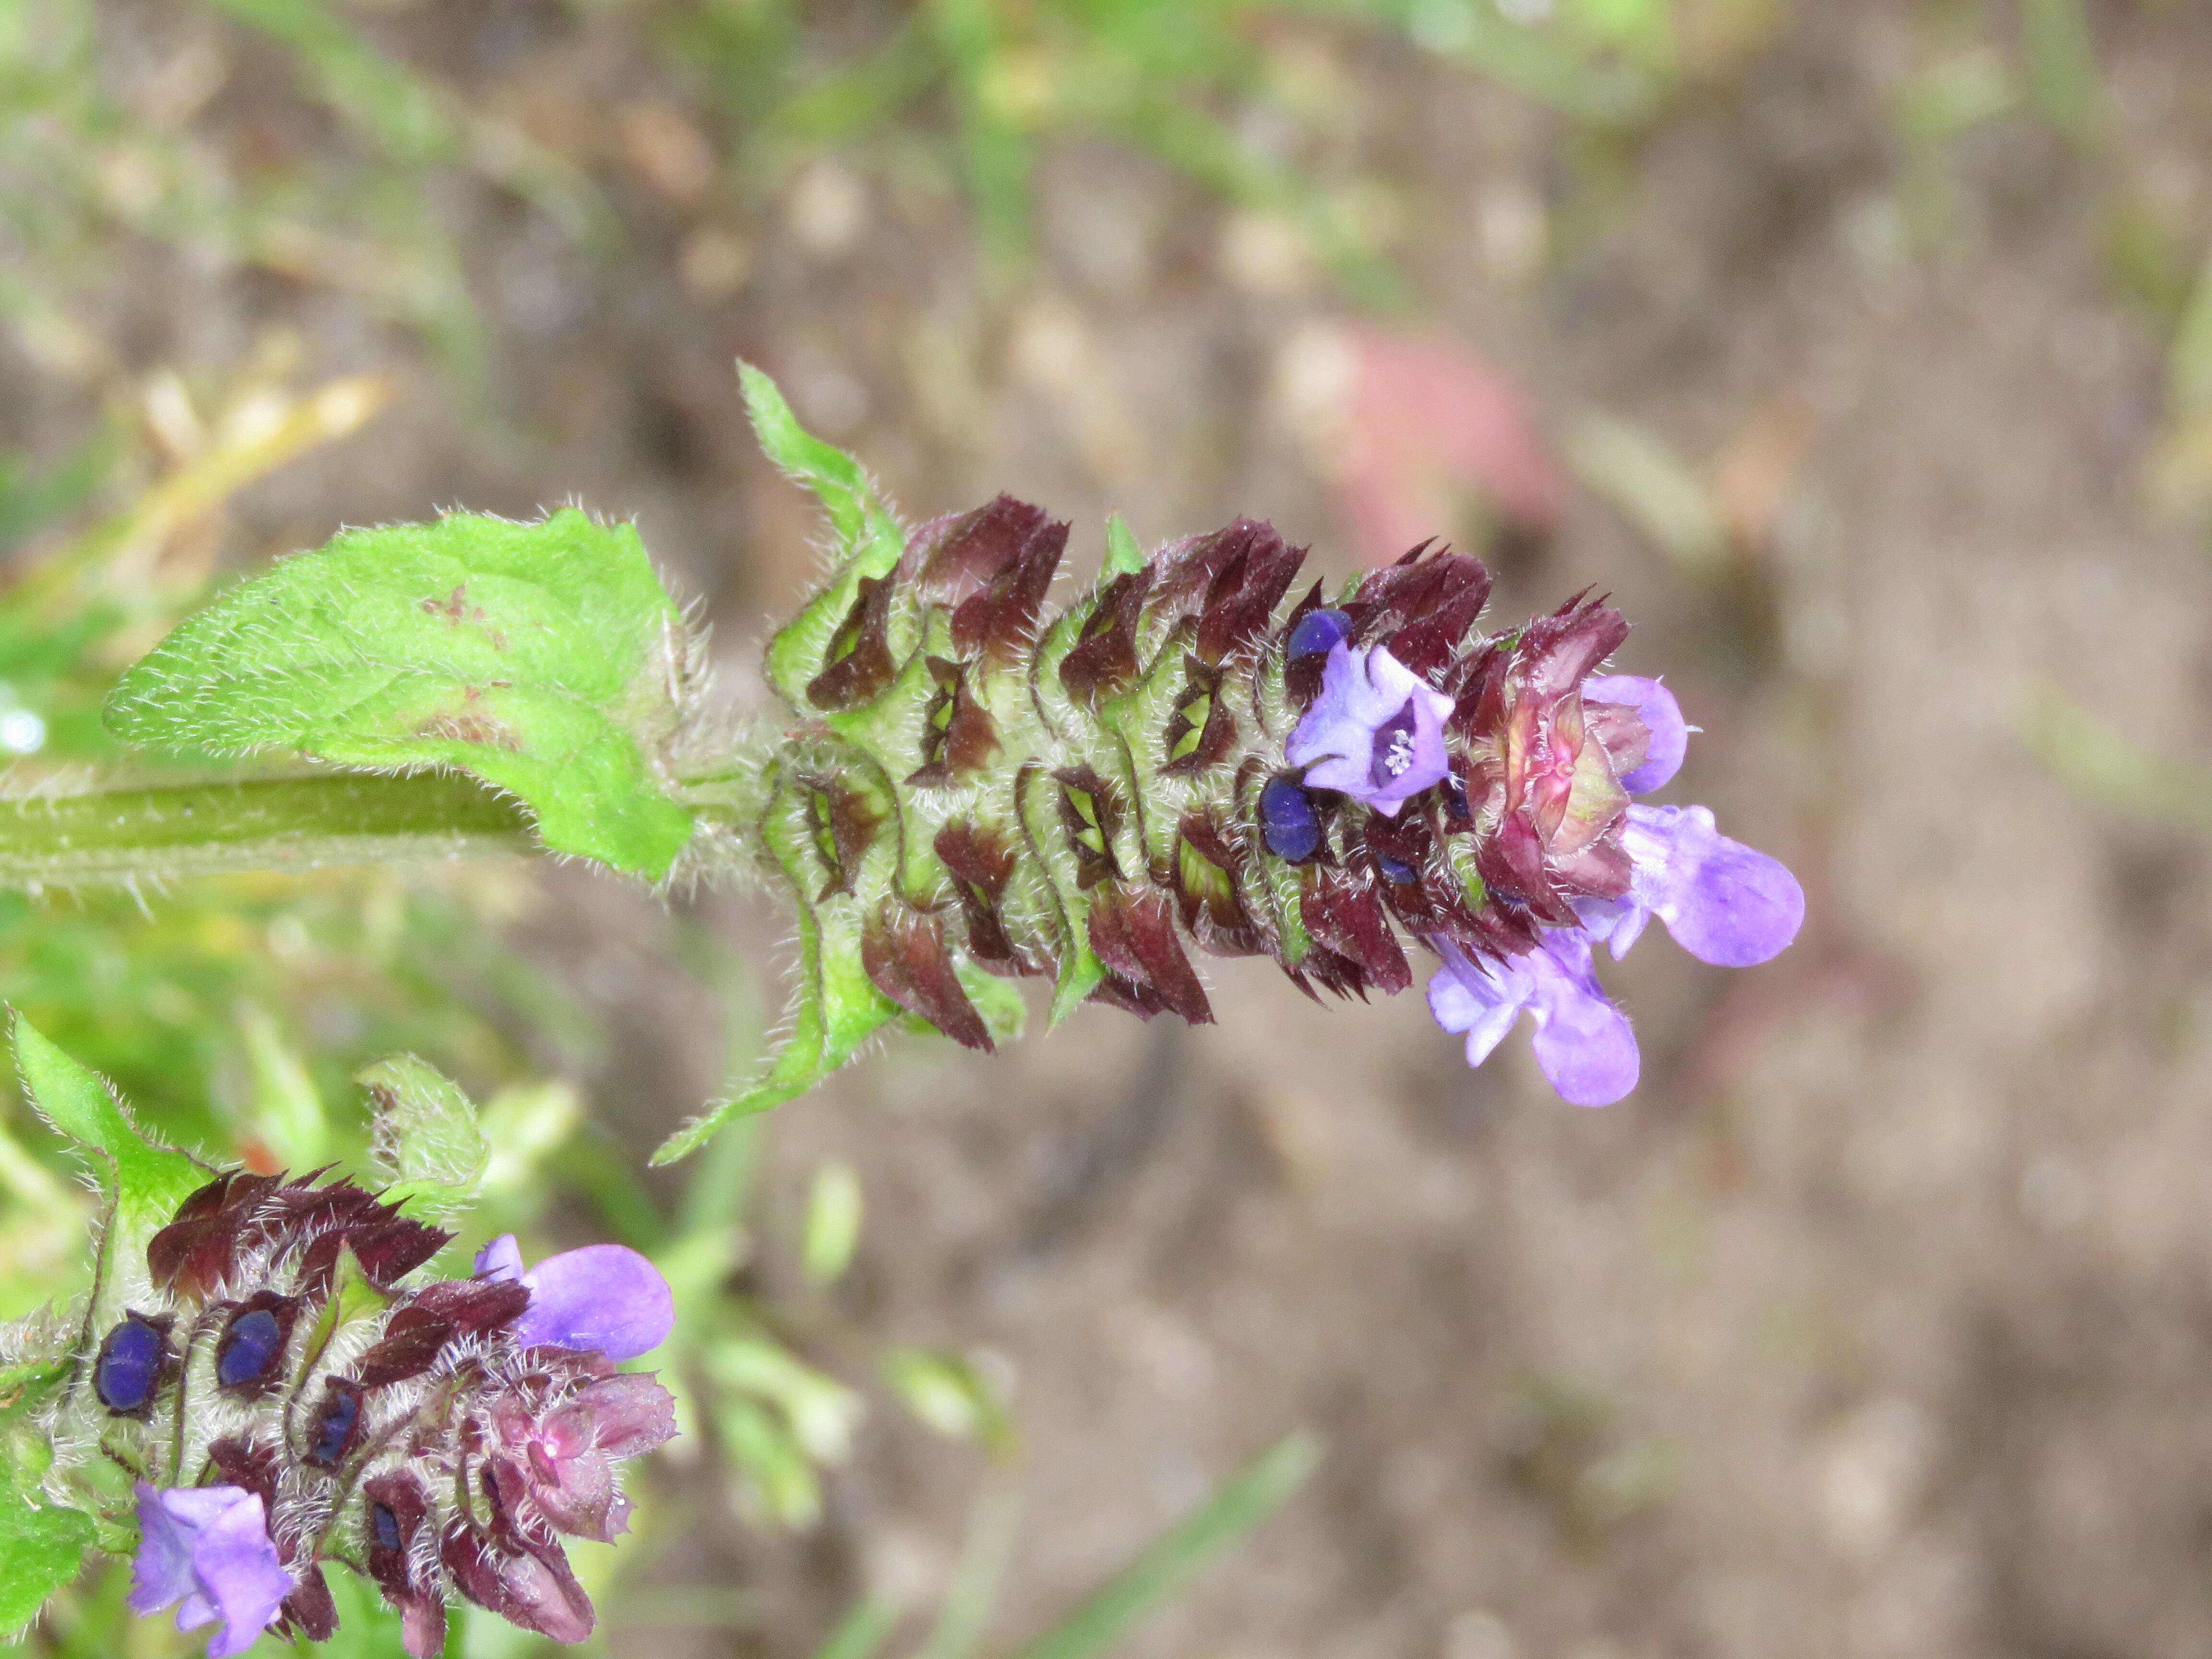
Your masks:
<svg viewBox="0 0 2212 1659"><path fill-rule="evenodd" d="M653 1263L588 1245L520 1274L502 1237L489 1272L436 1276L453 1234L409 1206L465 1208L484 1146L414 1060L365 1073L372 1192L206 1168L139 1135L20 1020L15 1053L33 1104L100 1170L106 1221L82 1316L0 1327L7 1520L31 1515L44 1546L31 1577L0 1559L11 1617L73 1575L71 1544L100 1542L133 1555L135 1613L219 1624L215 1659L263 1630L330 1639L332 1568L376 1584L411 1659L445 1652L456 1599L555 1641L591 1635L560 1540L617 1537L619 1464L675 1433L668 1391L615 1371L668 1336Z"/></svg>

